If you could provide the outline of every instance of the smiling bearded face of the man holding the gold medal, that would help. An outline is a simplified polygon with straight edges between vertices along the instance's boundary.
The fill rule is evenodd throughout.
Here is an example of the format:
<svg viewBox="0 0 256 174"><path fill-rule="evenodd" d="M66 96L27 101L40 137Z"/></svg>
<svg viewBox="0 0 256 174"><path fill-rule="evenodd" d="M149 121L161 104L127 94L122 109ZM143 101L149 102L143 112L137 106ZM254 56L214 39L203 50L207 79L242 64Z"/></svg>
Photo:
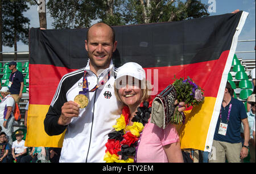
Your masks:
<svg viewBox="0 0 256 174"><path fill-rule="evenodd" d="M109 67L113 52L117 47L117 41L112 41L112 30L108 26L90 28L88 38L85 40L85 49L88 52L90 66L94 70Z"/></svg>

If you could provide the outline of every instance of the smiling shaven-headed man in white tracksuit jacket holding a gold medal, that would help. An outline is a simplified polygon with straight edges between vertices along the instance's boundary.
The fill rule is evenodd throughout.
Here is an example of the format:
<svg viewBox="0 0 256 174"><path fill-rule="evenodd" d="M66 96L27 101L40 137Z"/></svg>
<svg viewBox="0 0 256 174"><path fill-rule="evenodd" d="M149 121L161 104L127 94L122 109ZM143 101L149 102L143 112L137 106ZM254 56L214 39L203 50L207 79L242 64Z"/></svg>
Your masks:
<svg viewBox="0 0 256 174"><path fill-rule="evenodd" d="M114 95L112 56L116 48L112 27L105 23L94 24L88 29L85 40L89 57L86 67L60 80L44 120L48 135L61 134L67 128L60 162L104 162L108 134L114 130L113 125L121 114L117 113L121 106ZM88 82L88 86L83 82ZM85 108L84 104L74 102L79 94L88 98Z"/></svg>

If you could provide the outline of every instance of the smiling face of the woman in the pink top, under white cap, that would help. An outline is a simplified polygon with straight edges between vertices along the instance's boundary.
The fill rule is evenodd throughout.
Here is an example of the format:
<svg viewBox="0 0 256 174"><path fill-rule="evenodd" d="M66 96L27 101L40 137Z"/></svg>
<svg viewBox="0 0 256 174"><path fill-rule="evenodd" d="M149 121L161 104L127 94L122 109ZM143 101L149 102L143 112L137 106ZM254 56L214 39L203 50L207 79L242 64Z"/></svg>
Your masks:
<svg viewBox="0 0 256 174"><path fill-rule="evenodd" d="M135 105L136 107L141 104L143 94L141 82L138 79L126 76L126 80L123 78L118 83L118 94L123 103L128 106Z"/></svg>

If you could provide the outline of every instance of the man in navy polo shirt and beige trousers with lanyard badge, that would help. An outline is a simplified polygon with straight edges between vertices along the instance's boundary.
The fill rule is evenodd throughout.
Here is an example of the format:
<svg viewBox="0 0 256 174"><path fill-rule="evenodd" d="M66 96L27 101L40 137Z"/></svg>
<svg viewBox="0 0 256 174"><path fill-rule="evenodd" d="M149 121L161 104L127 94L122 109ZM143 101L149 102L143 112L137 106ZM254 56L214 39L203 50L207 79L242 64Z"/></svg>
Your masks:
<svg viewBox="0 0 256 174"><path fill-rule="evenodd" d="M232 87L227 82L209 163L225 163L226 158L229 163L239 163L248 154L250 131L245 106L242 101L234 99L232 95ZM245 135L243 145L240 134L241 122Z"/></svg>

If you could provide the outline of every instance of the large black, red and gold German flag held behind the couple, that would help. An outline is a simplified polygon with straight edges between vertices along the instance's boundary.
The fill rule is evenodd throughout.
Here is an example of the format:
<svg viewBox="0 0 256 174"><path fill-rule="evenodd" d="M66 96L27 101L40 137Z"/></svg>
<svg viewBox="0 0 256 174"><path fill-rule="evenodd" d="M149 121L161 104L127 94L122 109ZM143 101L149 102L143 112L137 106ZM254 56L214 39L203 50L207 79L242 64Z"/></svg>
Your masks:
<svg viewBox="0 0 256 174"><path fill-rule="evenodd" d="M204 90L203 104L185 111L181 148L210 151L224 88L232 65L238 35L248 13L207 18L115 26L119 67L137 62L146 70L154 95L176 78L188 76ZM61 147L64 133L49 137L44 118L64 74L86 66L86 31L81 29L30 29L30 105L26 146Z"/></svg>

